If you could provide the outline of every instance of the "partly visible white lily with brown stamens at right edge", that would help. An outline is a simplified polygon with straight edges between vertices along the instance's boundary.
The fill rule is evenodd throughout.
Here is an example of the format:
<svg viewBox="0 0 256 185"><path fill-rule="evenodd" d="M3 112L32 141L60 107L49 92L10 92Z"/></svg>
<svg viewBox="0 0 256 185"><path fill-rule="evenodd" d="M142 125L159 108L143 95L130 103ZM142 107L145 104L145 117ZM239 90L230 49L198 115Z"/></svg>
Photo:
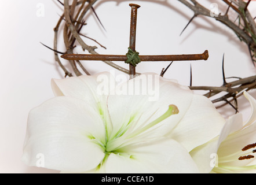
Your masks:
<svg viewBox="0 0 256 185"><path fill-rule="evenodd" d="M256 173L256 101L244 91L252 112L246 123L242 114L229 117L220 136L191 151L191 156L203 173ZM214 155L216 154L216 155Z"/></svg>

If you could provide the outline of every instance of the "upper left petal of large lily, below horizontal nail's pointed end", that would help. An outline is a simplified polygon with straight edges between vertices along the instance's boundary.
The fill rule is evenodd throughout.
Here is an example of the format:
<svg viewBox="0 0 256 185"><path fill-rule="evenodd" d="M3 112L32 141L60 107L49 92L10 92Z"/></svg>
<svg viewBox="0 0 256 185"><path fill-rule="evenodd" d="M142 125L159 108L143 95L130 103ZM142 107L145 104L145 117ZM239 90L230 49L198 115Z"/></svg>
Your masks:
<svg viewBox="0 0 256 185"><path fill-rule="evenodd" d="M115 80L108 72L67 79L52 79L52 90L55 96L79 98L96 109L106 102L107 95L113 88L115 88Z"/></svg>

